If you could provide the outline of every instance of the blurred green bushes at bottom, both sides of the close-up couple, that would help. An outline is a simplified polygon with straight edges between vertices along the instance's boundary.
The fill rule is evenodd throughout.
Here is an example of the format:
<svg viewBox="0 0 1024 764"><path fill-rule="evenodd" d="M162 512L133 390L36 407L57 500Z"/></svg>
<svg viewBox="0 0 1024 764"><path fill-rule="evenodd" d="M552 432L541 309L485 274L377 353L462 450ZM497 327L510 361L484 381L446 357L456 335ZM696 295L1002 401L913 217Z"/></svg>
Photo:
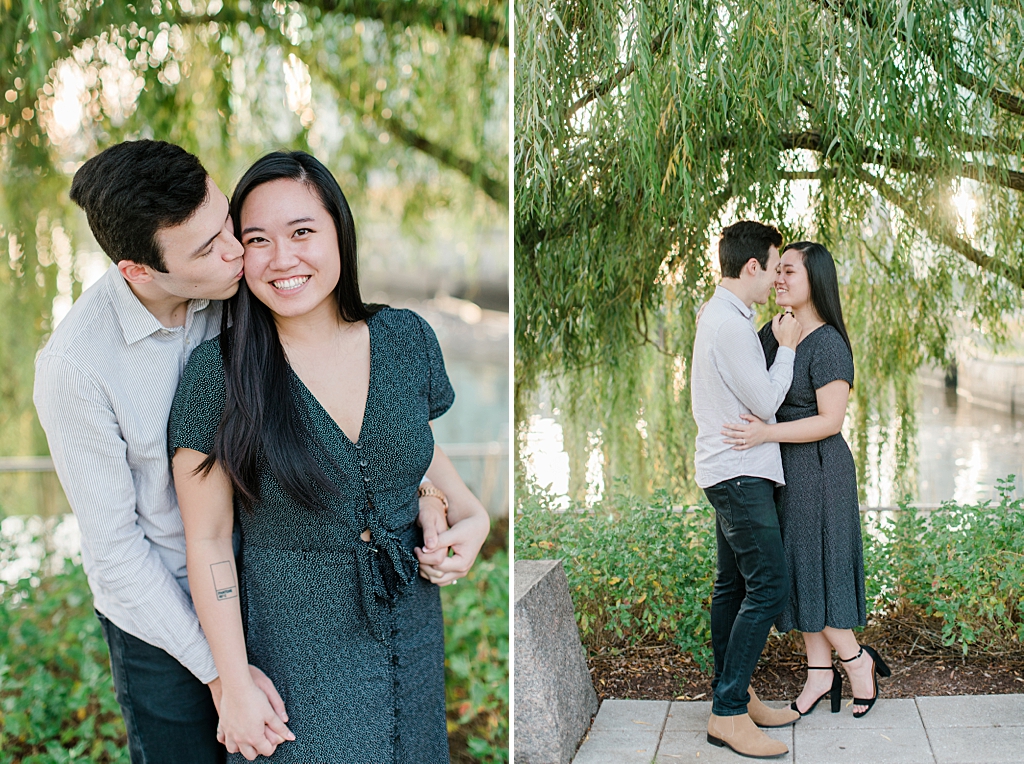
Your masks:
<svg viewBox="0 0 1024 764"><path fill-rule="evenodd" d="M0 559L9 562L8 552L0 549ZM52 564L46 553L40 569ZM508 565L499 548L441 591L456 761L509 760ZM85 572L71 560L55 574L0 585L0 764L14 762L128 762L106 643Z"/></svg>

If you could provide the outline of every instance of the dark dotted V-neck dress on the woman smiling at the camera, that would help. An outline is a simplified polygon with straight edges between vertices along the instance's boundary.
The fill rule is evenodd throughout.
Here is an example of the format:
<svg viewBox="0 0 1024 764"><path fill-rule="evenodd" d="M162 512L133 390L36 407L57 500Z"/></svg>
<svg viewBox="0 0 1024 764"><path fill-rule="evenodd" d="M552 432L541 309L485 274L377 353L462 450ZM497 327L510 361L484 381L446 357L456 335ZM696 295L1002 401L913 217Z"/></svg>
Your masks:
<svg viewBox="0 0 1024 764"><path fill-rule="evenodd" d="M428 421L452 406L440 347L410 310L371 316L370 388L351 442L293 373L311 449L337 484L327 510L293 501L270 473L261 503L239 508L249 663L273 681L296 739L257 761L446 764L444 630L438 588L418 576L417 487L433 456ZM209 454L224 407L218 340L193 352L168 448ZM364 529L370 543L359 539ZM237 754L228 760L241 764Z"/></svg>

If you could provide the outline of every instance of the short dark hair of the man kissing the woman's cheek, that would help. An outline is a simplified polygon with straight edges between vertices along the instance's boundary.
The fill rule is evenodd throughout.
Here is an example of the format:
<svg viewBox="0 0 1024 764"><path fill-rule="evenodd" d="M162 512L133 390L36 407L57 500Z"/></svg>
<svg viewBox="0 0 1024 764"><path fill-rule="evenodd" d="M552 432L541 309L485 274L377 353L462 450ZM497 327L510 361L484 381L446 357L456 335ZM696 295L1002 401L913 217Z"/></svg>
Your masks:
<svg viewBox="0 0 1024 764"><path fill-rule="evenodd" d="M72 201L85 210L96 242L114 262L167 272L157 231L185 222L207 200L197 157L163 140L112 145L75 173Z"/></svg>

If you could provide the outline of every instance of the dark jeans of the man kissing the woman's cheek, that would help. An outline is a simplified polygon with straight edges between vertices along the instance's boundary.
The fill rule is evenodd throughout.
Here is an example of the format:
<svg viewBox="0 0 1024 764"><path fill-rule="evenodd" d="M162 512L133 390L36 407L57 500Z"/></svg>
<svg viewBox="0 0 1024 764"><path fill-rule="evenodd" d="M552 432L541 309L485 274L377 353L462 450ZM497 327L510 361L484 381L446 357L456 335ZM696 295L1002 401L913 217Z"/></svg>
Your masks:
<svg viewBox="0 0 1024 764"><path fill-rule="evenodd" d="M131 764L223 764L210 688L164 650L96 616L111 648Z"/></svg>

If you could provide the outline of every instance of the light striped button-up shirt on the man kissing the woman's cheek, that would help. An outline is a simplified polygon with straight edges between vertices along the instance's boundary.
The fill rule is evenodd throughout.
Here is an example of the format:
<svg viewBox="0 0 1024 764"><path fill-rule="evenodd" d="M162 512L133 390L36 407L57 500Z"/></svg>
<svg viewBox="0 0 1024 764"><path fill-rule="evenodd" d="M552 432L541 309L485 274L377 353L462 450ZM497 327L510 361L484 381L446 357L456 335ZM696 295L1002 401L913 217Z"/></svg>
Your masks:
<svg viewBox="0 0 1024 764"><path fill-rule="evenodd" d="M167 417L193 349L220 331L193 300L183 327L145 309L116 265L87 289L36 359L34 400L82 532L96 609L217 676L188 595L185 537L167 459Z"/></svg>

